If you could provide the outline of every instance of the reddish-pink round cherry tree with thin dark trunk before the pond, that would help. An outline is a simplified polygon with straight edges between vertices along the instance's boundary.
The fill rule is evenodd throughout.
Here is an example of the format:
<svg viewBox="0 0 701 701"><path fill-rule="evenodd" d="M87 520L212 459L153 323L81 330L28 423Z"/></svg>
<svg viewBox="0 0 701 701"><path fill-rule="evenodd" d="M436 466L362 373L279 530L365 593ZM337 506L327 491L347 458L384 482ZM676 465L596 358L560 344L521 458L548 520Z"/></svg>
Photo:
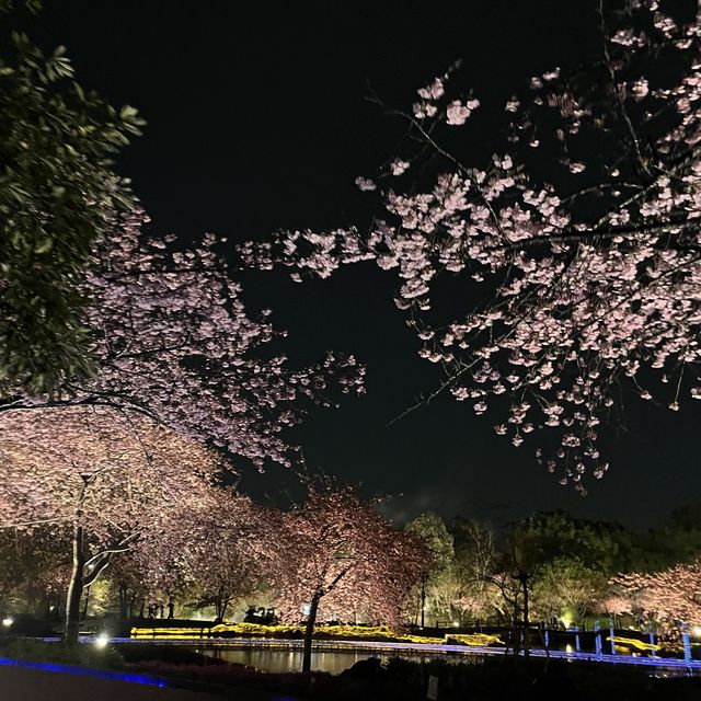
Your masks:
<svg viewBox="0 0 701 701"><path fill-rule="evenodd" d="M284 620L307 618L302 670L311 665L317 618L399 624L424 568L426 550L391 527L349 489L310 487L306 502L278 514L269 543L271 584Z"/></svg>

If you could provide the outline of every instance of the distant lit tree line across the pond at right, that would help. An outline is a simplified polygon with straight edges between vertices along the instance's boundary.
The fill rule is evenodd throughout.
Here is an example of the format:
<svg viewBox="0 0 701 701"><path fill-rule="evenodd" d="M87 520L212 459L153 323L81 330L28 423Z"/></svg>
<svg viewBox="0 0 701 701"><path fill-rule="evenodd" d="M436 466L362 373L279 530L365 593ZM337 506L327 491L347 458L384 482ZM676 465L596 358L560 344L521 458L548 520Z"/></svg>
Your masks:
<svg viewBox="0 0 701 701"><path fill-rule="evenodd" d="M674 627L701 613L701 505L678 508L659 527L541 512L498 531L423 514L406 529L432 564L412 591L414 625L583 625L627 614L631 623ZM666 582L675 572L679 586Z"/></svg>

